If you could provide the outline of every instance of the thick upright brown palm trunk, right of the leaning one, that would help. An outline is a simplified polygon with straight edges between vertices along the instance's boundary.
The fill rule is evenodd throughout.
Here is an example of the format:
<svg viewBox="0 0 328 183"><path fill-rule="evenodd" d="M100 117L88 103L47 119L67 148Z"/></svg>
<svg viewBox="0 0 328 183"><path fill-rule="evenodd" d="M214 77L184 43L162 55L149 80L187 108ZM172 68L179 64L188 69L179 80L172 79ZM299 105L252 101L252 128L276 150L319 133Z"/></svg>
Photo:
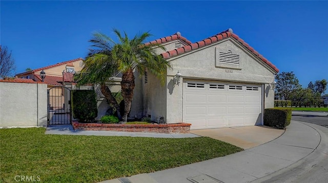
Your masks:
<svg viewBox="0 0 328 183"><path fill-rule="evenodd" d="M134 75L132 69L130 69L122 75L121 81L121 94L124 100L124 115L122 117L122 120L125 123L128 120L128 114L131 109L134 86Z"/></svg>

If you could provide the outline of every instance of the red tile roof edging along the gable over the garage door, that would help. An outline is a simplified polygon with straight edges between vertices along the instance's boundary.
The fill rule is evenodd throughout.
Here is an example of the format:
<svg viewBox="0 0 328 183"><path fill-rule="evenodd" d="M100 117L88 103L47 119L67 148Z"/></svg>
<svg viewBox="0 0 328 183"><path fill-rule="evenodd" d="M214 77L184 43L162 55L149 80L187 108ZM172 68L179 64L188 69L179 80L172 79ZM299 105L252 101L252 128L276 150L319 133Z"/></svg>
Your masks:
<svg viewBox="0 0 328 183"><path fill-rule="evenodd" d="M273 68L273 70L275 70L277 73L279 72L278 68L274 64L272 64L269 60L267 60L261 54L259 54L256 50L254 50L248 43L246 43L244 40L242 40L236 34L234 34L232 32L232 29L228 29L228 30L223 31L219 34L216 34L212 37L209 37L209 38L206 38L204 40L192 43L190 45L186 45L186 46L178 48L178 49L168 51L166 53L162 53L160 55L163 58L168 59L168 58L171 58L171 57L174 57L174 56L177 56L177 55L181 55L183 53L190 52L192 50L196 50L198 48L204 47L206 45L212 44L214 42L220 41L220 40L228 38L228 37L232 37L235 40L237 40L238 42L240 42L245 48L247 48L249 51L251 51L255 56L257 56L264 63L268 64L271 68Z"/></svg>

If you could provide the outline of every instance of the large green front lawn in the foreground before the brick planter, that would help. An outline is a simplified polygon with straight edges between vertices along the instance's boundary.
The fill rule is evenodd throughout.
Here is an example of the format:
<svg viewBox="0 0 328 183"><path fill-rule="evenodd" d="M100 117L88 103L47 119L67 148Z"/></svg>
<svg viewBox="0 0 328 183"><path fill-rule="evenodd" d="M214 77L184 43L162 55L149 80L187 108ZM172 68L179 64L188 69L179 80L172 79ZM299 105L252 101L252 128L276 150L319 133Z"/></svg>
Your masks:
<svg viewBox="0 0 328 183"><path fill-rule="evenodd" d="M45 128L0 129L0 182L98 182L178 167L242 149L211 138L46 135Z"/></svg>

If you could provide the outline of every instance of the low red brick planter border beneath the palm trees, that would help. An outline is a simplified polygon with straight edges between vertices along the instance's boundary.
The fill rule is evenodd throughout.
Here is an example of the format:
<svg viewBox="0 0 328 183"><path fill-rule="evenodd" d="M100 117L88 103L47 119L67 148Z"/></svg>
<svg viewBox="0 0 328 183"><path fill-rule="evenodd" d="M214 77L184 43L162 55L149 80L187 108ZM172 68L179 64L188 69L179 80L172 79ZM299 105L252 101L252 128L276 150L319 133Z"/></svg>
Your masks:
<svg viewBox="0 0 328 183"><path fill-rule="evenodd" d="M102 123L78 123L72 122L74 130L94 131L123 131L144 133L189 133L189 123L163 124L163 125L141 125L141 124L102 124Z"/></svg>

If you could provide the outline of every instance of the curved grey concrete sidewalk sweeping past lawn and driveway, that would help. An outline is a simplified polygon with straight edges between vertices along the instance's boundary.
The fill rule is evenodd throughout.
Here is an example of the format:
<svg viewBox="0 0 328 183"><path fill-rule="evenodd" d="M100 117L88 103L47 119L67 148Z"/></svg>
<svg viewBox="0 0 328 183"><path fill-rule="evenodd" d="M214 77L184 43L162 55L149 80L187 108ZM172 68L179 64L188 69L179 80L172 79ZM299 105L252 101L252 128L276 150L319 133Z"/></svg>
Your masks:
<svg viewBox="0 0 328 183"><path fill-rule="evenodd" d="M311 169L312 165L302 165L309 164L306 158L311 162L325 158L328 138L319 130L321 128L325 130L322 126L292 121L278 139L254 148L182 167L103 182L263 182L289 167L297 169L296 165L302 166L303 171Z"/></svg>

